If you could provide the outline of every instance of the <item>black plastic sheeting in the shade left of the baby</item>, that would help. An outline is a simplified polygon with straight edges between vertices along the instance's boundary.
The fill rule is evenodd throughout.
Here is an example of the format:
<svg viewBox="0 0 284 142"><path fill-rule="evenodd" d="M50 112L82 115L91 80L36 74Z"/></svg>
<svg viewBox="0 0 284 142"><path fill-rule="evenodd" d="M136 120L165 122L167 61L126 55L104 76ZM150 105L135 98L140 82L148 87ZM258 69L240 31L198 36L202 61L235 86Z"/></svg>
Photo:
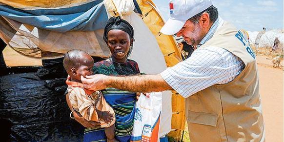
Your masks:
<svg viewBox="0 0 284 142"><path fill-rule="evenodd" d="M69 118L64 94L20 77L32 74L0 78L0 118L12 122L11 140L82 142L83 127Z"/></svg>

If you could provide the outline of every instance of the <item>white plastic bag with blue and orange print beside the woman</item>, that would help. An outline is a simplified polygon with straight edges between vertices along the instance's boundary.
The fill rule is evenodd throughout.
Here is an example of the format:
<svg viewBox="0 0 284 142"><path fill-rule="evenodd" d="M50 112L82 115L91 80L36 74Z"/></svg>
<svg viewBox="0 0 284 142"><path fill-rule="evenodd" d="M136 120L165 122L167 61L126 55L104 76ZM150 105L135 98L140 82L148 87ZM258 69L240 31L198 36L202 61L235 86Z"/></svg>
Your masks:
<svg viewBox="0 0 284 142"><path fill-rule="evenodd" d="M159 142L162 93L152 92L147 98L141 95L136 102L132 142Z"/></svg>

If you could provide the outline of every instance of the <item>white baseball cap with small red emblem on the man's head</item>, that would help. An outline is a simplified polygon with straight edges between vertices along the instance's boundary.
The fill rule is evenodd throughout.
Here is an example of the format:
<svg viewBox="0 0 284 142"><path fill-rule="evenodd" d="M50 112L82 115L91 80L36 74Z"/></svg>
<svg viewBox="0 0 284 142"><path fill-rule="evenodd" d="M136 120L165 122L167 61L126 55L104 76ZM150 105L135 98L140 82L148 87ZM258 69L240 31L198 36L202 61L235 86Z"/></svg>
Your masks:
<svg viewBox="0 0 284 142"><path fill-rule="evenodd" d="M212 5L211 0L170 0L170 19L161 29L165 35L179 32L186 20L204 11Z"/></svg>

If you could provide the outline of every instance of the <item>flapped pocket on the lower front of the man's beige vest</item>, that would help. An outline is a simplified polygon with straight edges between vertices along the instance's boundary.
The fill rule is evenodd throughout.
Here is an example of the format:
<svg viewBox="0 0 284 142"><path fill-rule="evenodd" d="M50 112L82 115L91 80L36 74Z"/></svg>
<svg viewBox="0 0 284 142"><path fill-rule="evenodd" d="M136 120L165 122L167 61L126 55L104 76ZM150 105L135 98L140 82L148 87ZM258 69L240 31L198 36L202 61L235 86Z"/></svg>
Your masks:
<svg viewBox="0 0 284 142"><path fill-rule="evenodd" d="M188 111L188 120L191 123L217 126L217 114Z"/></svg>

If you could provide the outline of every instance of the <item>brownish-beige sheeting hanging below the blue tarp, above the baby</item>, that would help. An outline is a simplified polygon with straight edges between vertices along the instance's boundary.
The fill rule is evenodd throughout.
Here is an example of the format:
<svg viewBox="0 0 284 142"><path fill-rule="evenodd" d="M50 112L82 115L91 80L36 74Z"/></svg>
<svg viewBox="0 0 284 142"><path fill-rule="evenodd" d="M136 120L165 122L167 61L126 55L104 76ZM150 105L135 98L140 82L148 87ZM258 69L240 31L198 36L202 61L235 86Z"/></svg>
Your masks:
<svg viewBox="0 0 284 142"><path fill-rule="evenodd" d="M106 22L106 14L104 18ZM103 24L99 25L103 26ZM109 49L102 39L103 29L61 33L0 17L0 31L0 38L9 47L33 58L60 58L71 49L81 49L92 56L102 58L110 56Z"/></svg>

